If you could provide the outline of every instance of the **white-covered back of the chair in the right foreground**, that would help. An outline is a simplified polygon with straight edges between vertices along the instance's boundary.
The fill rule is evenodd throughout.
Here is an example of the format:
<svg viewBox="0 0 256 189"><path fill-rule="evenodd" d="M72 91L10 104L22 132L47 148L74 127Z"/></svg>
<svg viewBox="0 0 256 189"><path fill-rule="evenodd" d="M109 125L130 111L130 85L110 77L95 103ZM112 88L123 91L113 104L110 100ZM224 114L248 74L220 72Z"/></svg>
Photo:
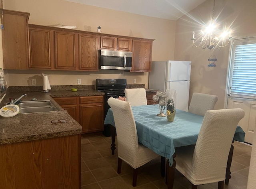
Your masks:
<svg viewBox="0 0 256 189"><path fill-rule="evenodd" d="M228 154L238 122L244 117L241 108L208 110L204 116L192 159L196 180L225 179Z"/></svg>

